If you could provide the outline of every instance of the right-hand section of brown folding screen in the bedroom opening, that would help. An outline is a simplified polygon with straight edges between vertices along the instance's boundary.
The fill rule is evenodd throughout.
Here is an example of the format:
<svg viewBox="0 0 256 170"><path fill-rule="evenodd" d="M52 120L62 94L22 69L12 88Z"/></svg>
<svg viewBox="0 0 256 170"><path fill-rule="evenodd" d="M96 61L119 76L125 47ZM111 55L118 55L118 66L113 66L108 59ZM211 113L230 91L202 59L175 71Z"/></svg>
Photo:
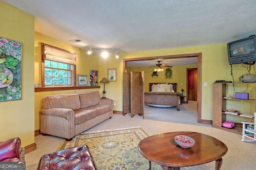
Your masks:
<svg viewBox="0 0 256 170"><path fill-rule="evenodd" d="M144 119L144 71L131 72L131 117L142 115Z"/></svg>

